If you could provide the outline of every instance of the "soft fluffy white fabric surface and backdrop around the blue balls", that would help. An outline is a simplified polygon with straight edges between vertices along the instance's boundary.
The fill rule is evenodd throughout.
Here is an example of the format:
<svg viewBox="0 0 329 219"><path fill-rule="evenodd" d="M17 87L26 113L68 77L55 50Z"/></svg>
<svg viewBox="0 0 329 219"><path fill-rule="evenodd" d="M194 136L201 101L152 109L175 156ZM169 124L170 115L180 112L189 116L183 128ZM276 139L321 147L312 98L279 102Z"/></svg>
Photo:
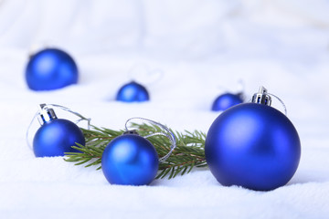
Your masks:
<svg viewBox="0 0 329 219"><path fill-rule="evenodd" d="M328 0L0 1L1 217L328 218L328 11ZM28 55L42 47L75 58L78 85L27 89ZM132 78L151 101L114 101ZM44 102L111 129L140 116L207 132L218 116L212 101L243 89L239 81L247 100L260 85L279 96L300 134L299 169L272 192L223 187L207 169L150 186L110 185L93 168L35 158L27 146Z"/></svg>

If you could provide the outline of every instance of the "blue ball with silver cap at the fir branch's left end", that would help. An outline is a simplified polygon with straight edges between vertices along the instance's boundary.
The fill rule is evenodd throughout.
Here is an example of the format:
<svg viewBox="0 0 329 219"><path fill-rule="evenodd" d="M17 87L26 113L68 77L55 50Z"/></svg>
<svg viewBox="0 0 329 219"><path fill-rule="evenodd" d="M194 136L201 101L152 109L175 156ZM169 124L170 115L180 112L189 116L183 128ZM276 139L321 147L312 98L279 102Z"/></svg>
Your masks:
<svg viewBox="0 0 329 219"><path fill-rule="evenodd" d="M36 157L64 156L65 152L79 152L72 149L76 143L85 144L80 128L70 120L55 119L43 124L33 139Z"/></svg>

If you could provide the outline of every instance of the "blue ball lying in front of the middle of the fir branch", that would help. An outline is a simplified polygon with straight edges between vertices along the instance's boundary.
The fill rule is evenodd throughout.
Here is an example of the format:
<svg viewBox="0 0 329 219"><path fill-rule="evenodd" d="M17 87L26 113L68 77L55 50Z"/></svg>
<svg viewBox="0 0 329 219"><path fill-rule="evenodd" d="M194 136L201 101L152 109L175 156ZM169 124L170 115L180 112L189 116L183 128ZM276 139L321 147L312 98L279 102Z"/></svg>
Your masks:
<svg viewBox="0 0 329 219"><path fill-rule="evenodd" d="M136 134L115 138L101 157L102 172L111 184L149 184L158 167L159 159L153 144Z"/></svg>

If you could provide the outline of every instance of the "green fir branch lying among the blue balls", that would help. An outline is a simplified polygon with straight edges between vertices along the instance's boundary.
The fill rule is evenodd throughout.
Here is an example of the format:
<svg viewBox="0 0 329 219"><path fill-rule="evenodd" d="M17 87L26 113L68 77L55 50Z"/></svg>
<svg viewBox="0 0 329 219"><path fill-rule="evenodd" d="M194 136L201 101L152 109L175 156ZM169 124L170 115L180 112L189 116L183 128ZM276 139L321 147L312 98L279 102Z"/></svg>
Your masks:
<svg viewBox="0 0 329 219"><path fill-rule="evenodd" d="M133 128L141 136L162 131L159 127L149 124L132 124ZM72 148L81 152L66 153L67 162L76 162L75 165L86 164L86 167L98 165L97 170L101 169L101 155L107 144L114 138L122 135L124 130L110 130L106 128L97 128L92 126L92 130L81 129L86 138L86 145L77 144ZM156 179L168 176L172 179L178 174L184 175L191 172L195 167L205 167L205 141L206 134L195 130L193 132L186 130L184 133L173 131L176 139L176 148L171 156L165 161L159 163L159 172ZM170 151L171 142L164 136L153 136L148 138L154 145L159 158Z"/></svg>

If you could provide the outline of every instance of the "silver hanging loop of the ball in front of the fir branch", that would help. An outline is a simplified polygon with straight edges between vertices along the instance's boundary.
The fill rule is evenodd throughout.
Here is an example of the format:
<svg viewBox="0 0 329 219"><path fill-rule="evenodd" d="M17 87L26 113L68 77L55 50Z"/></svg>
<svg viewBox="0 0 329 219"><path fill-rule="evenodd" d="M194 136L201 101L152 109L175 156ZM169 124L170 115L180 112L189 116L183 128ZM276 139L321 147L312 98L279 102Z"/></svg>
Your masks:
<svg viewBox="0 0 329 219"><path fill-rule="evenodd" d="M172 152L175 150L175 147L176 147L176 140L175 140L175 135L174 135L173 131L168 129L167 127L165 127L163 124L161 124L159 122L156 122L154 120L144 119L144 118L141 118L141 117L133 117L133 118L127 120L125 125L124 125L126 131L132 131L132 130L128 130L128 127L127 127L128 123L131 120L147 121L147 122L149 122L151 124L154 124L155 126L161 128L162 130L165 131L165 132L154 132L152 134L143 136L143 138L147 139L147 138L150 138L150 137L155 136L155 135L162 135L162 136L166 137L167 139L169 139L169 141L171 141L170 151L167 154L165 154L164 157L159 159L159 162L165 162L170 157L170 155L172 154Z"/></svg>

